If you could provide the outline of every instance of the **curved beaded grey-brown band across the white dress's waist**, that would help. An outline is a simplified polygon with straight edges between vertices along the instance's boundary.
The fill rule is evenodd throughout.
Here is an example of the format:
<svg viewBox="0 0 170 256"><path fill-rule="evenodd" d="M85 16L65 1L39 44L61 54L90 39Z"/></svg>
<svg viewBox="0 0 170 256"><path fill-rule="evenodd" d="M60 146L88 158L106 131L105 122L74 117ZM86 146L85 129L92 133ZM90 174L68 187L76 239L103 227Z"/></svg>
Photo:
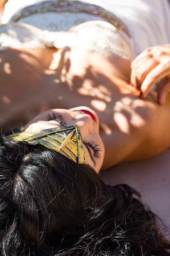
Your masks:
<svg viewBox="0 0 170 256"><path fill-rule="evenodd" d="M21 18L27 17L29 15L33 15L36 13L42 14L45 12L86 12L88 14L100 16L102 18L106 18L109 23L111 23L117 29L124 31L128 35L128 37L130 37L130 32L127 26L117 16L109 11L104 10L100 6L87 4L85 2L80 2L77 0L48 0L44 2L39 2L37 4L29 5L13 15L10 22L16 22Z"/></svg>

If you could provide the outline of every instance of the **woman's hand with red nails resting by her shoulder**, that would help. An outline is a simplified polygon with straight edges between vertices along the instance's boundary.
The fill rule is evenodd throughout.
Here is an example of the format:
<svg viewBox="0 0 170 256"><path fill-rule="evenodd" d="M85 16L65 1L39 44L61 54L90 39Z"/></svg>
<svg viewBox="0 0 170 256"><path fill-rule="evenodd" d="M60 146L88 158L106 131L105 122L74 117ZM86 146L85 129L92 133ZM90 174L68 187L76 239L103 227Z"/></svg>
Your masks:
<svg viewBox="0 0 170 256"><path fill-rule="evenodd" d="M152 86L165 78L158 89L158 102L164 105L170 92L170 44L149 47L131 63L131 84L141 91L145 98Z"/></svg>

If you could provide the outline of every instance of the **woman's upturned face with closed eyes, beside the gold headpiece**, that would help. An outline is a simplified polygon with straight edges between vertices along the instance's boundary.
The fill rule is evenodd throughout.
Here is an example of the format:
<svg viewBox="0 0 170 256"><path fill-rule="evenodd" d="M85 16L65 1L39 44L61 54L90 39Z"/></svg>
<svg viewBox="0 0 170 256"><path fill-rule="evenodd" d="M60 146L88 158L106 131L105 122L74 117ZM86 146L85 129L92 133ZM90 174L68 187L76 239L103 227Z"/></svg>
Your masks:
<svg viewBox="0 0 170 256"><path fill-rule="evenodd" d="M95 121L89 114L85 114L82 110L88 110L94 114ZM55 114L55 116L61 115L62 120L60 120L60 118L58 118L57 121L49 120L50 116L53 117L53 114ZM90 108L81 106L69 110L60 108L45 111L27 123L22 131L39 132L53 127L60 127L62 126L60 121L64 123L64 126L78 125L80 127L81 137L84 142L86 164L91 165L96 172L99 172L104 159L104 145L99 135L99 121L97 114ZM94 151L88 145L89 142L95 146L97 151Z"/></svg>

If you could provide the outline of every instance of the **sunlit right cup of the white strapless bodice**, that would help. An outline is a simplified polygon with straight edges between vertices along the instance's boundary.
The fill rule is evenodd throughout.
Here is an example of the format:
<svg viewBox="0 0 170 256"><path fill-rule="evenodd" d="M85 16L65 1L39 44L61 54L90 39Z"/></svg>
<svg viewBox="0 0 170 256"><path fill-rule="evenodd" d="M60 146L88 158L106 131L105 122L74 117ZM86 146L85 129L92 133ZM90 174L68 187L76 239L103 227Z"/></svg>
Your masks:
<svg viewBox="0 0 170 256"><path fill-rule="evenodd" d="M56 48L81 47L105 56L132 59L128 40L117 28L105 21L88 21L68 31L60 31L53 40L53 45Z"/></svg>

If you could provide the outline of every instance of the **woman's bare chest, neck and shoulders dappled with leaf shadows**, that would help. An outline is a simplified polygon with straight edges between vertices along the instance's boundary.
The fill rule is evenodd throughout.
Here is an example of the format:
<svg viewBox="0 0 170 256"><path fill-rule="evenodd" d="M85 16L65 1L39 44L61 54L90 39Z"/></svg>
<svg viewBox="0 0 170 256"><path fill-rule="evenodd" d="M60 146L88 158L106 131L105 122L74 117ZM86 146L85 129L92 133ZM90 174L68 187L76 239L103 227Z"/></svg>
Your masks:
<svg viewBox="0 0 170 256"><path fill-rule="evenodd" d="M74 48L8 49L0 59L2 119L27 122L51 108L90 107L98 114L105 145L102 168L150 158L169 147L170 97L164 106L153 93L141 100L129 85L128 60Z"/></svg>

